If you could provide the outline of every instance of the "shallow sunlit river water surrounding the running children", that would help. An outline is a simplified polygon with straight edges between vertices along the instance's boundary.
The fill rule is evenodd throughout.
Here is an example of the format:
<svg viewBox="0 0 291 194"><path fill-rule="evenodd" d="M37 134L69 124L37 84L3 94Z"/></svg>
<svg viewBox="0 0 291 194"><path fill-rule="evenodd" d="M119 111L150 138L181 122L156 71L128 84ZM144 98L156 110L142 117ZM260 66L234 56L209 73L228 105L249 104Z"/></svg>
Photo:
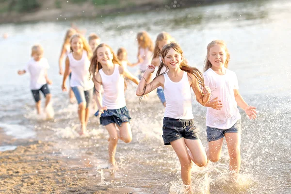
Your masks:
<svg viewBox="0 0 291 194"><path fill-rule="evenodd" d="M202 70L206 46L213 39L226 41L236 72L240 93L257 107L258 119L250 121L242 113L242 167L240 184L227 183L228 154L224 145L220 162L208 169L193 167L193 185L198 190L209 185L212 194L288 194L291 193L291 2L288 0L226 3L198 8L148 12L127 16L103 16L76 21L87 34L96 32L101 42L115 51L125 47L129 61L136 61L137 32L146 30L155 40L161 31L169 32L181 45L185 57ZM89 160L97 175L96 184L108 187L134 187L140 193L177 193L180 187L180 164L171 146L162 144L164 108L152 94L139 105L134 85L126 92L132 121L133 141L119 142L116 159L120 170L114 178L102 170L107 162L108 132L90 118L90 137L79 138L77 105L69 104L61 91L58 57L65 30L70 22L59 17L55 22L0 25L0 130L16 138L41 138L62 147L60 156L72 159L72 165ZM55 111L53 121L35 116L29 90L29 75L18 76L28 62L31 47L40 43L50 64L49 78ZM137 67L129 68L136 73ZM193 111L200 137L206 141L206 109L193 100ZM93 114L92 114L93 115ZM36 132L36 133L35 133ZM2 145L5 146L5 145ZM7 146L7 145L6 145ZM2 149L4 149L2 147ZM210 178L205 178L206 172ZM114 180L114 181L112 181Z"/></svg>

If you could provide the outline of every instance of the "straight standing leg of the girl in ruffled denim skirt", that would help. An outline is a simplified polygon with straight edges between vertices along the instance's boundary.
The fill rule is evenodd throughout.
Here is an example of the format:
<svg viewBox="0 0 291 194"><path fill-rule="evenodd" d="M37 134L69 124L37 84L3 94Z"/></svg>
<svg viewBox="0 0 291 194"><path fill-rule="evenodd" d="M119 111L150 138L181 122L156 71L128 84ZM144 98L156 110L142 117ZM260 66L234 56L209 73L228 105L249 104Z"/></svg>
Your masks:
<svg viewBox="0 0 291 194"><path fill-rule="evenodd" d="M115 124L110 123L106 125L105 128L109 132L109 145L108 145L108 154L109 154L109 169L118 169L115 161L115 153L118 142L117 131L115 128Z"/></svg>

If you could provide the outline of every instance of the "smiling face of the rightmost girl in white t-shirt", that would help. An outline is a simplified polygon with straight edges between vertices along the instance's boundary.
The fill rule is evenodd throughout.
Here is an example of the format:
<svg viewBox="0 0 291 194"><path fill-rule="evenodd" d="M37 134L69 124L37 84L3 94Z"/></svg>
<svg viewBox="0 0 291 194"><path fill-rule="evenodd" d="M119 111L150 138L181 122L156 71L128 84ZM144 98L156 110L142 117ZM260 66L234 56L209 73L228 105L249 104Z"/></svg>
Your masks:
<svg viewBox="0 0 291 194"><path fill-rule="evenodd" d="M208 60L213 68L223 68L226 62L226 50L220 45L209 49Z"/></svg>

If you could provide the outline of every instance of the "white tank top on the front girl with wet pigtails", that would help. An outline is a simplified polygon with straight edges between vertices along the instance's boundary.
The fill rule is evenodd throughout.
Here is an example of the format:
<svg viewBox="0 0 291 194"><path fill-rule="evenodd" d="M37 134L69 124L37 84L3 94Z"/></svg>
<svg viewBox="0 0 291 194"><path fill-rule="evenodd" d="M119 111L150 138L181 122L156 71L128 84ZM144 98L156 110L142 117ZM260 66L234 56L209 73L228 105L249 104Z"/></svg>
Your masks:
<svg viewBox="0 0 291 194"><path fill-rule="evenodd" d="M164 117L193 119L191 86L187 72L183 73L183 77L179 82L171 81L167 73L163 74L163 76L165 79L164 94L167 103Z"/></svg>

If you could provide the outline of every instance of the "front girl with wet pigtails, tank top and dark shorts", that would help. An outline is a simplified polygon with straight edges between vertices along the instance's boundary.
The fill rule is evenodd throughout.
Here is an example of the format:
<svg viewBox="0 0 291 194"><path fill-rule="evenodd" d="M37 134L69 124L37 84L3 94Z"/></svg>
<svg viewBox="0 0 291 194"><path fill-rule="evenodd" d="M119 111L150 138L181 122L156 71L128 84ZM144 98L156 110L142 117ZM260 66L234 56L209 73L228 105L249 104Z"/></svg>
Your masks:
<svg viewBox="0 0 291 194"><path fill-rule="evenodd" d="M191 159L187 147L190 149L192 160L198 166L207 162L206 153L198 139L192 113L191 88L199 103L205 105L210 98L210 89L204 87L202 73L195 67L184 63L183 51L177 43L165 45L161 51L162 61L156 78L146 84L155 66L148 65L136 90L137 96L143 96L159 86L164 88L167 106L163 119L164 145L171 145L181 163L181 177L184 185L191 190ZM167 72L162 73L163 66ZM162 74L161 74L162 73ZM201 91L200 87L203 87Z"/></svg>

